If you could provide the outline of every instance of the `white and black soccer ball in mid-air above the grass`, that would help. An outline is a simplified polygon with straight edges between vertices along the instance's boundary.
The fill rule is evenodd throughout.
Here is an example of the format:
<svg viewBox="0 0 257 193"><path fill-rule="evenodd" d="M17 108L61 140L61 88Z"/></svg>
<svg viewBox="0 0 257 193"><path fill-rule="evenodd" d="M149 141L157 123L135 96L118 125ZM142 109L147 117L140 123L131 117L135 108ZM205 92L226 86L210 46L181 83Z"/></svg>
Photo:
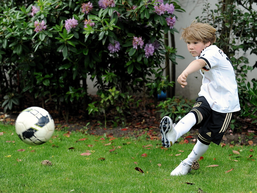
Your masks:
<svg viewBox="0 0 257 193"><path fill-rule="evenodd" d="M41 145L54 134L54 120L46 110L37 106L29 107L18 115L15 130L24 143Z"/></svg>

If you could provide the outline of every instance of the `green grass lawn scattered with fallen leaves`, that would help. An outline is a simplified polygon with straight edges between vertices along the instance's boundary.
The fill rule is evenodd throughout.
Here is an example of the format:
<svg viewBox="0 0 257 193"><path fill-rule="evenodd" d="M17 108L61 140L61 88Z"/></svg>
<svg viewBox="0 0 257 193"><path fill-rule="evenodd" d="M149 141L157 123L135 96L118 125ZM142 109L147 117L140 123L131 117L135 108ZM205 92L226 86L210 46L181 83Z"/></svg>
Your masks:
<svg viewBox="0 0 257 193"><path fill-rule="evenodd" d="M49 142L29 146L18 138L14 126L0 124L0 132L4 132L0 136L0 193L197 193L198 188L207 193L257 192L256 146L231 148L227 145L222 148L211 144L200 161L199 170L186 176L170 176L180 160L190 153L193 144L174 144L165 150L161 149L160 141L118 138L105 146L110 141L104 136L72 132L66 137L63 136L65 132L55 131L56 137ZM105 140L100 140L102 137ZM81 138L88 139L78 141ZM152 146L142 147L148 144ZM69 150L70 147L74 149ZM113 148L115 151L109 152ZM91 151L91 155L80 155L86 150ZM233 154L233 150L239 151L240 155ZM142 157L143 153L147 157ZM179 153L181 155L175 156ZM249 155L252 157L248 158ZM237 156L240 157L235 158ZM105 158L105 161L99 158ZM41 161L46 159L53 165L42 165ZM206 167L208 165L219 166ZM136 171L135 167L145 173ZM232 168L231 172L225 173Z"/></svg>

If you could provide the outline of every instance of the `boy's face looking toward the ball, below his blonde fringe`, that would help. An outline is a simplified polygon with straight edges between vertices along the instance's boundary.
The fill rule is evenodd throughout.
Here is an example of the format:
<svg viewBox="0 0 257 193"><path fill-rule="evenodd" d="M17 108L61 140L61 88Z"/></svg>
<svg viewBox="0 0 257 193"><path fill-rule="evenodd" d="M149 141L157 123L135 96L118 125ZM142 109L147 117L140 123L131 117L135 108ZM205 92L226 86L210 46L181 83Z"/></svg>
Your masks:
<svg viewBox="0 0 257 193"><path fill-rule="evenodd" d="M194 57L200 56L201 51L210 45L210 42L203 44L201 41L186 39L187 49Z"/></svg>

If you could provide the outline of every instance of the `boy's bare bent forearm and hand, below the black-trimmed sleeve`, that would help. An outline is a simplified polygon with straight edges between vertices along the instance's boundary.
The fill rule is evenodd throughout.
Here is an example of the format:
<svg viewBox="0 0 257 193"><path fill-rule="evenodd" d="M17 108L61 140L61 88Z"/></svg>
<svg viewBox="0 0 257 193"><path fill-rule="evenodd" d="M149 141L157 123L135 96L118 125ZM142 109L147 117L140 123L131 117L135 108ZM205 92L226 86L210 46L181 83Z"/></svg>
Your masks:
<svg viewBox="0 0 257 193"><path fill-rule="evenodd" d="M180 83L181 87L184 88L187 85L187 76L192 74L206 65L203 59L197 59L192 61L187 68L179 75L177 82Z"/></svg>

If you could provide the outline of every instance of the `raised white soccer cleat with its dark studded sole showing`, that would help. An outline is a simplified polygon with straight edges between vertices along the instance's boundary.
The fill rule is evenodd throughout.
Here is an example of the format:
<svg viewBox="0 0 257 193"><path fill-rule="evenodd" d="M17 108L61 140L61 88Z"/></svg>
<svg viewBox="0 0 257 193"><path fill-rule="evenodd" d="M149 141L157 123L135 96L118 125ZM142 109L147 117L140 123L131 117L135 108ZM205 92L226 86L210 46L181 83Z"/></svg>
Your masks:
<svg viewBox="0 0 257 193"><path fill-rule="evenodd" d="M164 116L161 119L160 130L161 130L161 143L162 146L169 148L171 147L176 139L176 131L174 129L175 124L172 125L172 120L168 116Z"/></svg>

